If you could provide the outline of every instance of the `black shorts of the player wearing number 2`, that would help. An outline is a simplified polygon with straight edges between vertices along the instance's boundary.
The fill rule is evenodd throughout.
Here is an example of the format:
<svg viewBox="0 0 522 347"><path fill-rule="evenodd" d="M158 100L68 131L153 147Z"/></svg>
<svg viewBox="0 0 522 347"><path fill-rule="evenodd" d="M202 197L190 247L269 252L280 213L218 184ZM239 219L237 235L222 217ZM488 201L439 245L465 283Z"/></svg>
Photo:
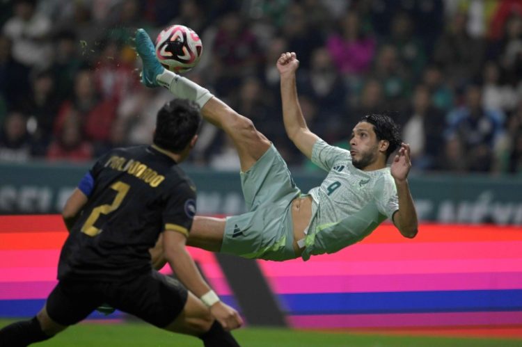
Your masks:
<svg viewBox="0 0 522 347"><path fill-rule="evenodd" d="M47 298L47 313L58 324L83 321L103 303L165 328L182 312L188 292L180 282L157 271L128 282L62 280Z"/></svg>

